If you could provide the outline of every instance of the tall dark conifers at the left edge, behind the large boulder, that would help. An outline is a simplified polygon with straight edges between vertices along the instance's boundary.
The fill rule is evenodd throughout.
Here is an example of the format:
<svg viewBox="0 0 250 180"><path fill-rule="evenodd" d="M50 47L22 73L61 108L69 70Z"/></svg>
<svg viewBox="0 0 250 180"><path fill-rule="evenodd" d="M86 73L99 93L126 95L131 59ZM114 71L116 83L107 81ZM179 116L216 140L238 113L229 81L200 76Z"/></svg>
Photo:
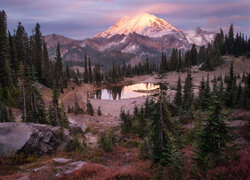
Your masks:
<svg viewBox="0 0 250 180"><path fill-rule="evenodd" d="M46 43L36 24L28 36L21 22L12 35L7 32L7 16L0 11L0 122L14 121L11 107L22 109L23 122L67 126L67 117L58 98L67 87L68 73L63 67L60 46L52 62ZM39 88L53 89L53 100L47 112Z"/></svg>

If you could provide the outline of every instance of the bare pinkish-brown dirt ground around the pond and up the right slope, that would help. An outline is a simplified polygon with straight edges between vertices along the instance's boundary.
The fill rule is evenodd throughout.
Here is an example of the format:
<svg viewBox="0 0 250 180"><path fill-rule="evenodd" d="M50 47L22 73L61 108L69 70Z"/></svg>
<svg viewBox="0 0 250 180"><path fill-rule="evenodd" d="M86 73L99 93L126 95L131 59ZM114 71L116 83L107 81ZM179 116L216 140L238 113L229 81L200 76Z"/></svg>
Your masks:
<svg viewBox="0 0 250 180"><path fill-rule="evenodd" d="M225 63L217 67L214 71L206 72L206 71L198 71L198 67L192 68L192 77L193 77L193 85L194 85L194 93L198 93L198 87L202 77L206 80L207 74L210 76L210 80L214 78L214 76L222 75L224 78L225 74L227 74L230 70L230 63L234 62L234 72L236 74L242 75L243 72L250 72L250 59L244 59L242 57L224 57ZM170 100L173 100L175 95L175 89L177 86L177 80L179 75L181 76L182 85L184 85L186 73L177 73L170 72L167 73L166 78L163 80L166 81L171 88L168 90L168 97ZM157 75L144 75L144 76L135 76L133 78L126 78L122 84L130 83L157 83L160 79ZM212 86L212 84L211 84ZM60 95L60 101L64 104L65 109L67 110L68 106L74 106L75 101L80 104L82 108L86 108L87 101L87 93L95 90L97 87L91 84L83 84L81 86L77 86L73 82L68 83L68 88L64 89L64 93ZM45 87L41 87L41 93L43 94L43 98L46 106L48 107L49 102L51 101L51 90ZM100 100L100 99L90 99L90 102L93 105L95 112L98 107L101 107L102 116L97 116L96 113L94 116L88 115L78 115L75 116L73 114L68 114L68 117L71 121L75 121L80 124L84 124L85 126L95 126L102 129L102 127L116 126L119 123L119 114L121 108L125 111L133 112L133 108L135 105L140 107L146 100L146 97L137 97L131 99L121 99L121 100ZM94 128L95 128L94 127Z"/></svg>

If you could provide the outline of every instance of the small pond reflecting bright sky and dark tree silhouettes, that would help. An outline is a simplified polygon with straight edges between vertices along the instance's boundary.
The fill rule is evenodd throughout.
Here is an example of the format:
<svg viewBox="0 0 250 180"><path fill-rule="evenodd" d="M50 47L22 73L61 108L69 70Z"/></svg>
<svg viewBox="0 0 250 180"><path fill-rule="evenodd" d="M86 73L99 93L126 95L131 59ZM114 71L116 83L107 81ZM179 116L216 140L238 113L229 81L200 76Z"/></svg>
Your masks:
<svg viewBox="0 0 250 180"><path fill-rule="evenodd" d="M91 98L119 100L129 99L141 96L147 96L152 91L158 90L159 85L153 83L140 83L129 86L115 86L111 88L100 89L91 93Z"/></svg>

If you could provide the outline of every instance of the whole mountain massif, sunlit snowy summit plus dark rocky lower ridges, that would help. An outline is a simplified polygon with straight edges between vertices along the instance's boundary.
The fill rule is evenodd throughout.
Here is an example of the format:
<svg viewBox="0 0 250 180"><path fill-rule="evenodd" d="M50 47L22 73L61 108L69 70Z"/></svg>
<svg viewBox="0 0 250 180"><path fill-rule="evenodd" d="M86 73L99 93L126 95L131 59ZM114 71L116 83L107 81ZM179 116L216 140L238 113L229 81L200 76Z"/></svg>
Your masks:
<svg viewBox="0 0 250 180"><path fill-rule="evenodd" d="M86 53L94 62L112 64L112 61L130 62L146 56L159 57L161 52L171 49L187 50L192 44L207 45L214 40L215 33L197 28L187 33L168 22L148 13L135 17L123 17L114 26L93 38L73 40L60 35L47 35L50 57L55 56L57 42L61 45L63 59L82 61Z"/></svg>

